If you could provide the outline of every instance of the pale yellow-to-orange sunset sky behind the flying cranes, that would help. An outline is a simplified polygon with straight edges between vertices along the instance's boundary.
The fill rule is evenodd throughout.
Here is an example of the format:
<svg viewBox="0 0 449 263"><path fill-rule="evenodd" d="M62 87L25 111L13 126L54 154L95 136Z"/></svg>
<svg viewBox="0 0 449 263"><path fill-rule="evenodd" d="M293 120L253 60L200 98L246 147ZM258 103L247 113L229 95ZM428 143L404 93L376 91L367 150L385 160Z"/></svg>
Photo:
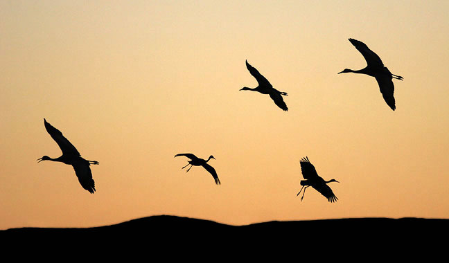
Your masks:
<svg viewBox="0 0 449 263"><path fill-rule="evenodd" d="M449 218L448 1L0 1L0 229ZM376 52L396 111L347 40ZM285 91L284 112L245 60ZM95 194L44 120L91 166ZM191 152L218 172L181 167ZM332 183L296 197L299 159Z"/></svg>

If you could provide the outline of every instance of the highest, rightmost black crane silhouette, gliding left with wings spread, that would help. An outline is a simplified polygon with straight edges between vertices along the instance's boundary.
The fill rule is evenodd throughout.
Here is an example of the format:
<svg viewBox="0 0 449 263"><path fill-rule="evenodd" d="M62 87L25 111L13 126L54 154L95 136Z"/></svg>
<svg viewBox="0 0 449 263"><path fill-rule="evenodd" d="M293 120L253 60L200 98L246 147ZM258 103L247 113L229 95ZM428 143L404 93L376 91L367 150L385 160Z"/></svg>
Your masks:
<svg viewBox="0 0 449 263"><path fill-rule="evenodd" d="M363 42L360 42L358 40L349 39L349 42L351 42L355 48L357 48L360 53L362 53L364 59L367 61L367 67L364 69L360 69L358 71L353 71L352 69L344 69L340 73L360 73L360 74L367 74L371 77L376 78L380 92L382 93L382 96L387 102L387 105L392 109L396 109L395 100L394 100L394 84L392 78L396 78L397 80L403 80L403 77L392 74L386 66L382 63L382 60L380 60L380 57L371 51L371 49L368 48L367 45L365 45ZM340 74L338 73L338 74Z"/></svg>

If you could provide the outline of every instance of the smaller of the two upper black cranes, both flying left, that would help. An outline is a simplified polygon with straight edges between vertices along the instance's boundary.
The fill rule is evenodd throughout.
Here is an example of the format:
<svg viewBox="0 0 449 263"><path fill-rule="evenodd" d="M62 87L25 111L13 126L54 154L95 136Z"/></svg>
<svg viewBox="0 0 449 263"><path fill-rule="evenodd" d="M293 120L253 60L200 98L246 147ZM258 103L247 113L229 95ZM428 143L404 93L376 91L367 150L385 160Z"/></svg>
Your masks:
<svg viewBox="0 0 449 263"><path fill-rule="evenodd" d="M284 111L288 111L288 107L287 105L285 105L285 102L282 98L282 95L288 96L288 94L274 89L272 84L270 84L270 82L261 73L259 73L256 68L251 66L248 61L246 61L246 64L249 73L251 73L251 75L256 78L258 86L254 89L243 87L242 89L240 89L240 91L258 91L262 94L269 94L272 100L274 100L274 103L276 103L279 108L283 109Z"/></svg>

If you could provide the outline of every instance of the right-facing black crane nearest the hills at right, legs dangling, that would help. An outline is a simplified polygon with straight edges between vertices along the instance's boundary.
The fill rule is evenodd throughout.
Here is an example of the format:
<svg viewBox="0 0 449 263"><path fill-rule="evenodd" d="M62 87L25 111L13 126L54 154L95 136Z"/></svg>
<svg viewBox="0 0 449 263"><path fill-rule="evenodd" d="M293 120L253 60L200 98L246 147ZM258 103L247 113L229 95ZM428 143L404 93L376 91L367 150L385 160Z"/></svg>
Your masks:
<svg viewBox="0 0 449 263"><path fill-rule="evenodd" d="M335 179L331 179L329 181L324 181L324 179L322 179L317 174L317 170L315 170L315 167L312 165L312 163L310 163L307 156L306 156L306 158L302 158L300 163L301 163L301 172L303 174L304 179L306 179L306 180L301 180L301 185L303 185L303 187L301 188L301 190L299 190L299 193L297 194L297 196L298 196L301 193L301 191L303 190L304 186L306 186L306 188L304 188L304 192L301 197L301 201L304 198L306 189L309 186L312 186L312 188L315 188L315 190L317 190L318 192L323 194L324 197L326 197L328 199L328 201L330 201L331 203L337 201L338 198L335 197L335 194L332 192L332 189L326 183L331 183L331 182L340 183L340 182Z"/></svg>

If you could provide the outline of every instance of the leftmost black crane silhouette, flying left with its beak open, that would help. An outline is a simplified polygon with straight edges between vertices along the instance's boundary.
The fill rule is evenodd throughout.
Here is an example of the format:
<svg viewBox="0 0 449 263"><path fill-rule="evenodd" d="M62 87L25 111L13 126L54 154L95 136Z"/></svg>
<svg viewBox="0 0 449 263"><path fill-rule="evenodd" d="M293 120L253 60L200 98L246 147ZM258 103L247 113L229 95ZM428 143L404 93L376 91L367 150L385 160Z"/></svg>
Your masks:
<svg viewBox="0 0 449 263"><path fill-rule="evenodd" d="M92 179L92 172L89 166L91 164L98 165L98 161L88 161L85 158L82 158L75 146L73 146L69 140L62 135L61 131L51 126L50 123L47 123L45 118L44 125L51 138L53 138L53 140L55 140L61 148L62 156L58 158L51 158L44 155L42 158L37 159L37 163L49 160L72 165L82 188L85 188L85 190L93 194L95 192L95 183L94 179Z"/></svg>

